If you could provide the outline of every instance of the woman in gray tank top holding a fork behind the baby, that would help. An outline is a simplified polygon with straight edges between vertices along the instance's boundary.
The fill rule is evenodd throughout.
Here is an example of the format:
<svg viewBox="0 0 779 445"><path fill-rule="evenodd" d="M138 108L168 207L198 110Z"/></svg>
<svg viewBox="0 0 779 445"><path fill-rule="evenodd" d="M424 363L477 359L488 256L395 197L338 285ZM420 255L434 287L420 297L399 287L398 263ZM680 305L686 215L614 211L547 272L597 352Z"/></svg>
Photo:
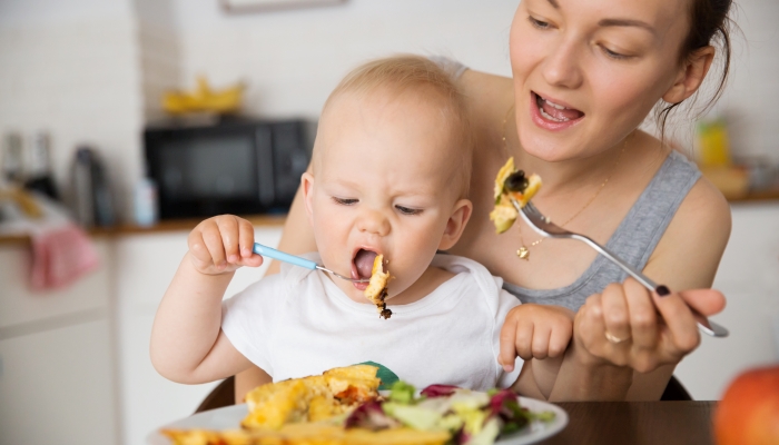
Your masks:
<svg viewBox="0 0 779 445"><path fill-rule="evenodd" d="M698 91L717 37L726 60L719 92L729 8L730 0L523 0L510 37L513 79L458 75L477 148L473 216L451 253L484 264L525 303L576 312L556 383L529 396L659 399L700 342L687 304L704 315L723 308L714 290L649 293L585 245L542 241L522 221L496 235L489 214L495 174L513 156L543 178L533 202L558 225L608 245L665 289L710 287L730 234L728 204L638 126L659 102L672 109ZM315 248L299 197L280 248ZM239 375L237 399L267 380L260 370Z"/></svg>

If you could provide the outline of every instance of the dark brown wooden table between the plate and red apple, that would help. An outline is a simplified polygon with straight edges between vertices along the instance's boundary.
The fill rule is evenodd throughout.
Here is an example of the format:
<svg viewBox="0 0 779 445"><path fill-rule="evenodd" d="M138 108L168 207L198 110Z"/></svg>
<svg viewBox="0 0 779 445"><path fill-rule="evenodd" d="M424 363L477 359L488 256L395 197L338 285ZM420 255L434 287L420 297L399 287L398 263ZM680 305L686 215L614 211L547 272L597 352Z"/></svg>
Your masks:
<svg viewBox="0 0 779 445"><path fill-rule="evenodd" d="M541 442L563 444L714 443L711 416L717 402L568 402L565 429Z"/></svg>

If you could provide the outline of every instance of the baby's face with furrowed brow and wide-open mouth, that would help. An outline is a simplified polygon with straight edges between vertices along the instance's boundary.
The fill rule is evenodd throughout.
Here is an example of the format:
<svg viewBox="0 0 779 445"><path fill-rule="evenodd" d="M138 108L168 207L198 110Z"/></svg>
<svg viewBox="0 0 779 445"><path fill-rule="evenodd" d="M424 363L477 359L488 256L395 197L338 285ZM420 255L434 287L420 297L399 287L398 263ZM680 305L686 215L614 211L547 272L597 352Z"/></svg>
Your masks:
<svg viewBox="0 0 779 445"><path fill-rule="evenodd" d="M457 141L430 102L408 92L389 100L381 92L342 93L319 121L318 158L313 175L304 176L325 267L366 277L375 255L383 254L395 277L391 298L427 269L464 201L451 167ZM367 301L365 284L334 281L352 299Z"/></svg>

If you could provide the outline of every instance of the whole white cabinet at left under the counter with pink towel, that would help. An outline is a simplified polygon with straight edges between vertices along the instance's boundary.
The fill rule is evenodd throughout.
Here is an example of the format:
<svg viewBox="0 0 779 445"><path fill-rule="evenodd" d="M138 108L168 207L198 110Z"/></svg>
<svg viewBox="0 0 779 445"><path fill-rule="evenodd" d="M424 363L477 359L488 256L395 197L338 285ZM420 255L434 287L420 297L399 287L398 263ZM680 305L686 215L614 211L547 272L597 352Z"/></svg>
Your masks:
<svg viewBox="0 0 779 445"><path fill-rule="evenodd" d="M29 246L0 246L0 444L118 444L109 241L97 270L29 289Z"/></svg>

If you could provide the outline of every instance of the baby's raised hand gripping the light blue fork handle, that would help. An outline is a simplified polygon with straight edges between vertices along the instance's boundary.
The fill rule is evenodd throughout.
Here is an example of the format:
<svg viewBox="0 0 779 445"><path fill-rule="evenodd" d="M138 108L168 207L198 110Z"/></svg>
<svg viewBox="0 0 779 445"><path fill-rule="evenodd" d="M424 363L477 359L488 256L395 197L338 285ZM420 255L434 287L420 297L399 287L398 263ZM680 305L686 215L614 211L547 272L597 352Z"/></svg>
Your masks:
<svg viewBox="0 0 779 445"><path fill-rule="evenodd" d="M253 253L252 222L234 215L219 215L198 224L187 244L189 258L201 274L227 274L240 266L263 264L263 257Z"/></svg>

